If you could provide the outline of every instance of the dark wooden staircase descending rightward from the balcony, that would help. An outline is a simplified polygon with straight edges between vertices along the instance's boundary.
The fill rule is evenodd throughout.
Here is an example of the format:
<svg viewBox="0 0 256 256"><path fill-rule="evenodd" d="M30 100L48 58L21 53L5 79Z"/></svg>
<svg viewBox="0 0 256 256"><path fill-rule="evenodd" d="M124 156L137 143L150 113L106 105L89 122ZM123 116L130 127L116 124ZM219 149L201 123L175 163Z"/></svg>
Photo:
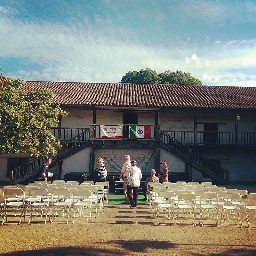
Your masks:
<svg viewBox="0 0 256 256"><path fill-rule="evenodd" d="M213 163L192 148L182 144L180 141L161 130L159 130L159 140L162 148L178 156L189 165L189 168L193 167L197 171L206 174L217 183L228 183L228 175L230 172L220 167L218 164Z"/></svg>

